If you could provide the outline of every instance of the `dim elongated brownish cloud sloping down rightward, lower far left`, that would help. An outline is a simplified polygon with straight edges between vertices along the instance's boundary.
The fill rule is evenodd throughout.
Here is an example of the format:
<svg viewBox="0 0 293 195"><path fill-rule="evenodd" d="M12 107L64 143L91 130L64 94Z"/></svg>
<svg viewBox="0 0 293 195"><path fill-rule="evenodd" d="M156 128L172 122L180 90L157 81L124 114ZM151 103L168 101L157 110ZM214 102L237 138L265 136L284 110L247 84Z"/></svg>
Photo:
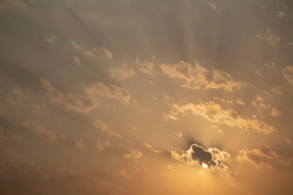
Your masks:
<svg viewBox="0 0 293 195"><path fill-rule="evenodd" d="M43 141L52 142L55 141L57 138L57 135L55 133L48 131L44 126L35 122L19 122L16 124L16 127L24 127L30 130L31 133L41 137Z"/></svg>

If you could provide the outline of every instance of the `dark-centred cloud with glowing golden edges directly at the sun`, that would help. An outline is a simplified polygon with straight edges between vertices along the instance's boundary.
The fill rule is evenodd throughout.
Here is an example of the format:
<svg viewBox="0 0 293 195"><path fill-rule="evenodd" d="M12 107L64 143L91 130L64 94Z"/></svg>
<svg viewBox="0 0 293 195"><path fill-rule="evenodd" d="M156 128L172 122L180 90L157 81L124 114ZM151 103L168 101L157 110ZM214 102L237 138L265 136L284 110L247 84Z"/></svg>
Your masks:
<svg viewBox="0 0 293 195"><path fill-rule="evenodd" d="M180 153L170 151L170 153L171 157L179 162L194 166L207 164L212 171L221 170L230 174L227 166L230 163L230 154L215 147L206 150L197 144L192 144L187 151L182 150Z"/></svg>

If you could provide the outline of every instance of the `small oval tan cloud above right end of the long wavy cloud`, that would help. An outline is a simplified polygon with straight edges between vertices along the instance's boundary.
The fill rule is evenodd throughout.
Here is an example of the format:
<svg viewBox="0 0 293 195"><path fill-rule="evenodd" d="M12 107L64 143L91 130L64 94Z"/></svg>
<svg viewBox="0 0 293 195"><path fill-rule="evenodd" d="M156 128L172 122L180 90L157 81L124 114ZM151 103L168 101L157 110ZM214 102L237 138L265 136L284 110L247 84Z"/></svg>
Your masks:
<svg viewBox="0 0 293 195"><path fill-rule="evenodd" d="M136 75L133 68L129 68L126 63L112 66L109 72L110 76L113 78L130 78Z"/></svg>

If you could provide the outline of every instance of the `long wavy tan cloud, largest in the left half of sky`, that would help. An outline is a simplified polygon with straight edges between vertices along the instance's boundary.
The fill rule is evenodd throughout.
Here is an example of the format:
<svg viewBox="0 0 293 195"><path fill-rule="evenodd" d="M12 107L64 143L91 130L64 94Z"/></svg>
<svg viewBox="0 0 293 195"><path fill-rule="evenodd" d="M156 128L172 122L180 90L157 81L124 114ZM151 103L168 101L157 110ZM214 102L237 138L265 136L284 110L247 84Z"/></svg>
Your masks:
<svg viewBox="0 0 293 195"><path fill-rule="evenodd" d="M98 108L104 98L120 100L124 104L129 104L131 99L125 88L116 85L107 87L101 82L87 85L83 94L62 93L48 79L41 79L41 86L51 102L64 104L66 110L82 113Z"/></svg>

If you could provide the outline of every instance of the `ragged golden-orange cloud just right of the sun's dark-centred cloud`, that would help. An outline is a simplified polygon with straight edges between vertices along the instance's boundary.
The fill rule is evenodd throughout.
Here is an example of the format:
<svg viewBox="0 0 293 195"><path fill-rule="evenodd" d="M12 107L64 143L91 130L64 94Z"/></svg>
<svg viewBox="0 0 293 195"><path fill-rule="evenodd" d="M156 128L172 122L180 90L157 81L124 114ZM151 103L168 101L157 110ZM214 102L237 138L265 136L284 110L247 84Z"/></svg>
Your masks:
<svg viewBox="0 0 293 195"><path fill-rule="evenodd" d="M255 166L256 169L259 168L272 168L270 163L272 159L278 158L275 151L271 150L269 154L264 153L260 149L243 149L238 151L237 161L238 162L248 162Z"/></svg>

